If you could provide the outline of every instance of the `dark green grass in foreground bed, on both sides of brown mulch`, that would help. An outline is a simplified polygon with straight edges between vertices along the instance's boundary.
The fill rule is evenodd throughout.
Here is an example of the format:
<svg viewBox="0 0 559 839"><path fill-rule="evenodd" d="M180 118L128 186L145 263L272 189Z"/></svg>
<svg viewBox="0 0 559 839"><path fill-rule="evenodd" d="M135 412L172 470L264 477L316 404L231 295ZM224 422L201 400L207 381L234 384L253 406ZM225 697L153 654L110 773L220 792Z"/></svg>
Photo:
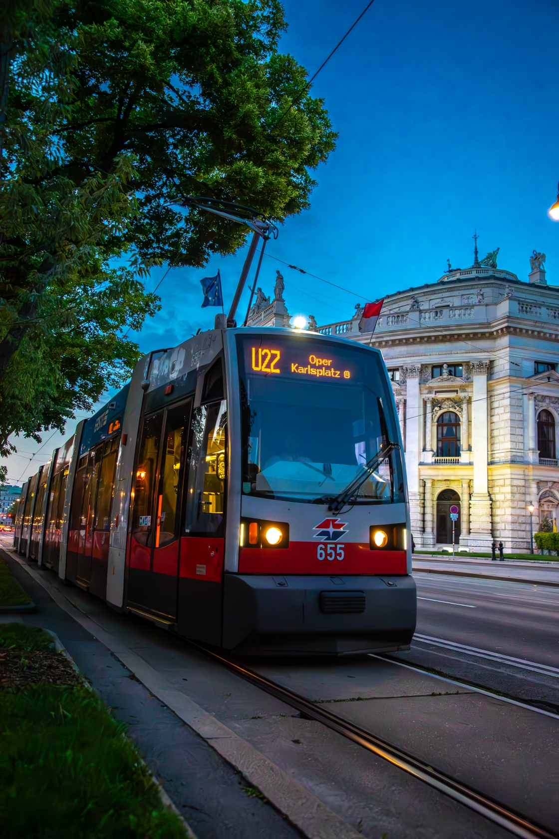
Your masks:
<svg viewBox="0 0 559 839"><path fill-rule="evenodd" d="M1 631L4 649L51 654L42 630ZM0 690L3 839L184 839L124 732L85 685Z"/></svg>

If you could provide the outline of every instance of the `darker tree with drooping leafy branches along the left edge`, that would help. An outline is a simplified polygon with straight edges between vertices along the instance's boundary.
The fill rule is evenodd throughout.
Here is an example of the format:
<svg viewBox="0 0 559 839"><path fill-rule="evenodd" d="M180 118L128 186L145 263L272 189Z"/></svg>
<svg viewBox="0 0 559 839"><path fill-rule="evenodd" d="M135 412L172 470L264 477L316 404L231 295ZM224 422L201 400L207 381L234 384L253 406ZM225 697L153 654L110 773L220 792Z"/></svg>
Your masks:
<svg viewBox="0 0 559 839"><path fill-rule="evenodd" d="M133 161L79 183L63 170L60 129L73 101L75 38L61 37L54 4L8 8L0 76L0 454L8 436L62 430L139 357L122 336L158 308L127 239L137 212ZM8 72L8 60L11 66ZM136 270L111 265L129 252Z"/></svg>

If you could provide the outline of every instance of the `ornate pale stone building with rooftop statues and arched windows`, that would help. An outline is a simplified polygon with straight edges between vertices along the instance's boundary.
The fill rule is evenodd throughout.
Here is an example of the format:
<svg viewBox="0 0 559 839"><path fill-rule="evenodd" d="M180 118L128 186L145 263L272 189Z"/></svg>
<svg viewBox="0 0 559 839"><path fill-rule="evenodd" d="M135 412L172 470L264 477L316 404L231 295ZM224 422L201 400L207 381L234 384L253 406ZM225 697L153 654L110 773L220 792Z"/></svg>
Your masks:
<svg viewBox="0 0 559 839"><path fill-rule="evenodd" d="M490 257L490 258L489 258ZM452 541L530 550L532 526L559 505L559 286L534 252L528 281L496 252L434 283L386 296L373 335L351 320L321 326L379 347L400 418L419 548Z"/></svg>

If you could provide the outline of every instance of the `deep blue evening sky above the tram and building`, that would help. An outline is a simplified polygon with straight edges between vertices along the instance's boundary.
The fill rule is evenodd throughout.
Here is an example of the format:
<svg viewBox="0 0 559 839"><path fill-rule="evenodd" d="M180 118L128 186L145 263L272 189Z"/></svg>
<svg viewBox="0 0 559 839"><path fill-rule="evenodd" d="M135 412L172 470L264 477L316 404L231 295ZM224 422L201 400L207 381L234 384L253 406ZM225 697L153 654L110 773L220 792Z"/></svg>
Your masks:
<svg viewBox="0 0 559 839"><path fill-rule="evenodd" d="M312 75L366 0L284 5L281 49ZM265 294L280 268L292 315L343 320L359 300L436 281L447 258L470 265L474 228L480 258L500 248L499 267L527 279L536 248L547 254L548 281L559 284L559 225L546 216L559 179L558 41L556 0L375 0L314 82L339 140L314 173L311 209L267 246L349 290L265 257ZM218 310L200 308L199 279L220 269L227 308L245 253L170 271L158 289L163 309L137 336L142 351L213 326ZM246 304L244 295L243 316ZM10 479L33 474L61 440L43 448L17 440L41 451L24 472L23 456L10 457Z"/></svg>

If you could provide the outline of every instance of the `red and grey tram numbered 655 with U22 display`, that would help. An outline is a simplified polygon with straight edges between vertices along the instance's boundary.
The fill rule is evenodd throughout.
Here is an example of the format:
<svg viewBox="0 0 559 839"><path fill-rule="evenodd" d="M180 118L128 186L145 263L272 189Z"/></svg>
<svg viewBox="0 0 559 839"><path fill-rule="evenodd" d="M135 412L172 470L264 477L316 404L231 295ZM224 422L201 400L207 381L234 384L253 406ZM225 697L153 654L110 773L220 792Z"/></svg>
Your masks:
<svg viewBox="0 0 559 839"><path fill-rule="evenodd" d="M400 426L380 352L215 329L150 352L23 487L14 545L236 654L409 649Z"/></svg>

